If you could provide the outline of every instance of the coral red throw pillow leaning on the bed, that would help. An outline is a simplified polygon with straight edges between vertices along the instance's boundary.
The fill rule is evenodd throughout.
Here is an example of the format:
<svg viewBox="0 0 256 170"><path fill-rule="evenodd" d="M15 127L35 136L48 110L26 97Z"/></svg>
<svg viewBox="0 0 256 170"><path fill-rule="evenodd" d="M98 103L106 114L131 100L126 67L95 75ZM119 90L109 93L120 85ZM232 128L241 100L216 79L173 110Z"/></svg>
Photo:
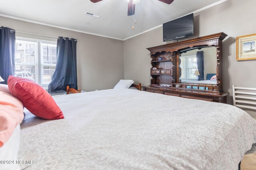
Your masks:
<svg viewBox="0 0 256 170"><path fill-rule="evenodd" d="M52 96L35 82L26 78L9 76L8 88L10 93L34 115L49 120L64 118Z"/></svg>

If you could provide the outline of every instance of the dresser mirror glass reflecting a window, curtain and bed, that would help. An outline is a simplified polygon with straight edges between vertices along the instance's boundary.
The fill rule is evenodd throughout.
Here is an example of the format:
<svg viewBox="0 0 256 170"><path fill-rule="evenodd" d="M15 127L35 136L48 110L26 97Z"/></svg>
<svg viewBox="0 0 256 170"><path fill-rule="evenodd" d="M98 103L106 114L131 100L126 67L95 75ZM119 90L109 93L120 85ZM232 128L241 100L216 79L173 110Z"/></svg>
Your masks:
<svg viewBox="0 0 256 170"><path fill-rule="evenodd" d="M216 47L181 51L180 82L216 85Z"/></svg>

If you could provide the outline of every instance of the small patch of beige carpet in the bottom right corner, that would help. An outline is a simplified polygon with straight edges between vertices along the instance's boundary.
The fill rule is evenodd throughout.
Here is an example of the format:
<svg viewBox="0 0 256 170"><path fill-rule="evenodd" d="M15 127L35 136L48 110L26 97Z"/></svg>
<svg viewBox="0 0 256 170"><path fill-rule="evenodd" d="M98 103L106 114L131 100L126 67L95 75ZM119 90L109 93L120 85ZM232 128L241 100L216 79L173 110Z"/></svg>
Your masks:
<svg viewBox="0 0 256 170"><path fill-rule="evenodd" d="M241 170L256 170L256 153L244 155Z"/></svg>

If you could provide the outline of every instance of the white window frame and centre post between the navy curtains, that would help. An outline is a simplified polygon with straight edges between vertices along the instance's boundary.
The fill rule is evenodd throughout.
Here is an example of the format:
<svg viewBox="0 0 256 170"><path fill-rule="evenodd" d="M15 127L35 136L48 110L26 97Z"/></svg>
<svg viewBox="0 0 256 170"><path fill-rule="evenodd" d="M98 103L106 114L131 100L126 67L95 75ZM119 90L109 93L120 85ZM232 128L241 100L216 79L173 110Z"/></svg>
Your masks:
<svg viewBox="0 0 256 170"><path fill-rule="evenodd" d="M37 49L35 49L35 69L36 69L36 83L42 86L44 89L48 90L49 84L43 84L43 51L42 51L42 44L50 44L50 45L57 45L57 41L49 41L44 39L34 39L28 37L18 37L16 36L16 40L18 41L29 41L31 43L37 44ZM15 42L16 43L16 42ZM16 62L15 62L16 64ZM50 65L50 64L47 64ZM54 64L52 64L54 66ZM55 64L56 66L56 64Z"/></svg>

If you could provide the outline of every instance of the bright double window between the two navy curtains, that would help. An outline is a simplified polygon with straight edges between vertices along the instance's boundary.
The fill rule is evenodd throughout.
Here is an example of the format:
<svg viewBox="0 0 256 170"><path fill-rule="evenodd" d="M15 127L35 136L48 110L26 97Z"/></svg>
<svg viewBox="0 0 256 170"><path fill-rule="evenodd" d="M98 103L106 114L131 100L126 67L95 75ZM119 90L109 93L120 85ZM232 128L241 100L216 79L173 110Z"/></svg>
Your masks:
<svg viewBox="0 0 256 170"><path fill-rule="evenodd" d="M56 42L16 38L15 76L28 78L41 86L52 80L57 61Z"/></svg>

